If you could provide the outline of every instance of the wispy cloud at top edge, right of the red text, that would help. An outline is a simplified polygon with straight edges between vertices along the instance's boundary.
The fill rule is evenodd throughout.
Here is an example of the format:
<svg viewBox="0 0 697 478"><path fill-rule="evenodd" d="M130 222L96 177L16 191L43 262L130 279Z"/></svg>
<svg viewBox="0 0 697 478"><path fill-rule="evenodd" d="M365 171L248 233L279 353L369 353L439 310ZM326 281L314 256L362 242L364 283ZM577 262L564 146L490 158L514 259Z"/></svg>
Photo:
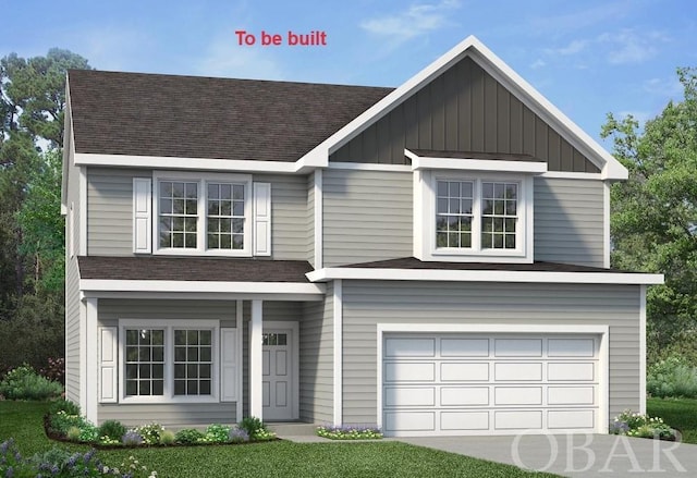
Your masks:
<svg viewBox="0 0 697 478"><path fill-rule="evenodd" d="M387 37L394 48L411 38L437 30L450 23L450 12L460 8L457 0L439 3L417 3L405 11L360 22L366 32Z"/></svg>

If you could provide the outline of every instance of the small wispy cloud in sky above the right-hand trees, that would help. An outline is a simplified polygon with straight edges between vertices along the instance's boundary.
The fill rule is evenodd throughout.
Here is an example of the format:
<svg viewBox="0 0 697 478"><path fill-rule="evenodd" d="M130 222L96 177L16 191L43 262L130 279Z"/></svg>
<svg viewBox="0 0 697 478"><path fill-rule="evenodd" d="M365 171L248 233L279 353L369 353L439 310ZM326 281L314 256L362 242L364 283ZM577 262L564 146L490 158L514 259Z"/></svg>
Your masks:
<svg viewBox="0 0 697 478"><path fill-rule="evenodd" d="M644 63L659 52L659 42L668 37L660 32L637 34L624 28L616 33L604 33L597 41L608 48L607 60L611 64Z"/></svg>

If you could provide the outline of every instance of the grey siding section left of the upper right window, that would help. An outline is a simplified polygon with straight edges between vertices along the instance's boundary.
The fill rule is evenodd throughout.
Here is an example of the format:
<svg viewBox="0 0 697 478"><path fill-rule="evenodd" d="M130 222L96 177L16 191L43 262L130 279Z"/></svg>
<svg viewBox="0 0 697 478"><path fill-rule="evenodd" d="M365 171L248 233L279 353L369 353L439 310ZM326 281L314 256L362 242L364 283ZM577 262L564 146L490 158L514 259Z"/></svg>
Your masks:
<svg viewBox="0 0 697 478"><path fill-rule="evenodd" d="M325 267L413 255L411 172L323 172Z"/></svg>

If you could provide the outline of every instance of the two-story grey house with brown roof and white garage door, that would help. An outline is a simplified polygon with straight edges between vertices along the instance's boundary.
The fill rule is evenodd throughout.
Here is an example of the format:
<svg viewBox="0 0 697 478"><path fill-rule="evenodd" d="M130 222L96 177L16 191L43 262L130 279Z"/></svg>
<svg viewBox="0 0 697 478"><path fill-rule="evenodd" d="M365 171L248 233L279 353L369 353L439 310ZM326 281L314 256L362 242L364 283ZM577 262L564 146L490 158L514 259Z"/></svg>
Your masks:
<svg viewBox="0 0 697 478"><path fill-rule="evenodd" d="M589 91L589 94L592 94ZM396 89L71 71L66 395L96 422L607 431L626 170L476 38Z"/></svg>

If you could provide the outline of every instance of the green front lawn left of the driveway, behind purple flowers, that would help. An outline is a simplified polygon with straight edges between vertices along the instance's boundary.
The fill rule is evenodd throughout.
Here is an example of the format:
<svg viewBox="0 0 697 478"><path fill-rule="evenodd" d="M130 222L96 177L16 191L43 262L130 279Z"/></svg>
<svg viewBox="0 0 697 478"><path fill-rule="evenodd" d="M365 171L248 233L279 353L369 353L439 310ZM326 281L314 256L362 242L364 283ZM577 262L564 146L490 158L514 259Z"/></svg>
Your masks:
<svg viewBox="0 0 697 478"><path fill-rule="evenodd" d="M0 402L0 442L13 437L23 455L54 445L86 451L83 445L52 442L44 434L47 403ZM99 451L109 466L129 456L160 477L552 477L468 456L413 446L396 441L292 443L274 441L245 445L132 449Z"/></svg>

